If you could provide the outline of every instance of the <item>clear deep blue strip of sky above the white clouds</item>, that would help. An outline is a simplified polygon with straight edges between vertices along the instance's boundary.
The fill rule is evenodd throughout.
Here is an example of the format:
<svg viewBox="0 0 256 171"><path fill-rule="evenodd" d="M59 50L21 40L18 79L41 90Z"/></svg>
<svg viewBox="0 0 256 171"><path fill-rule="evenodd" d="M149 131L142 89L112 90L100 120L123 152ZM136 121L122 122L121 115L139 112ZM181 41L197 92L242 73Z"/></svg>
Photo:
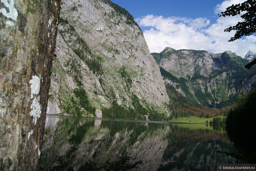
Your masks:
<svg viewBox="0 0 256 171"><path fill-rule="evenodd" d="M146 16L148 14L179 17L214 17L217 16L214 13L214 8L217 4L223 2L223 0L183 0L183 1L168 1L168 0L112 0L115 4L123 7L134 18Z"/></svg>

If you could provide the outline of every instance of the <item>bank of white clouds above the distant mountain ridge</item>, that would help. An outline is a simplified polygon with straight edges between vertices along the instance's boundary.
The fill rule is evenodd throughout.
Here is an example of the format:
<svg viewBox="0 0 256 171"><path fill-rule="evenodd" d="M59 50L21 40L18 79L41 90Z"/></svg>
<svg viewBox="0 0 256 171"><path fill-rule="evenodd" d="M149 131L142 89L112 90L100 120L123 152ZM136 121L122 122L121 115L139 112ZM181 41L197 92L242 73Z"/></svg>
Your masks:
<svg viewBox="0 0 256 171"><path fill-rule="evenodd" d="M220 13L232 4L239 4L241 0L227 0L218 4L214 11ZM207 50L212 53L222 53L231 50L242 57L248 51L255 52L256 36L250 35L233 42L227 42L234 36L235 31L224 32L225 28L241 21L240 16L220 17L215 23L207 18L181 18L171 16L147 15L136 19L143 30L150 52L161 52L165 47L174 49Z"/></svg>

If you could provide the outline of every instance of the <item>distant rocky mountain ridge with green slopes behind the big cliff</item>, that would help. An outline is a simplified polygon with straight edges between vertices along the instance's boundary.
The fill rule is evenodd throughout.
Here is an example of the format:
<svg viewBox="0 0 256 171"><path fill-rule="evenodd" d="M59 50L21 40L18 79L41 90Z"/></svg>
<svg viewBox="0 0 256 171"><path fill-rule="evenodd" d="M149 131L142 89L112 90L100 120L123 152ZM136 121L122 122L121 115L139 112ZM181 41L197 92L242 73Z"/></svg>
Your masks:
<svg viewBox="0 0 256 171"><path fill-rule="evenodd" d="M256 87L256 69L244 68L255 53L245 59L231 51L208 53L205 50L165 48L152 53L167 89L207 106L232 104L240 92Z"/></svg>

